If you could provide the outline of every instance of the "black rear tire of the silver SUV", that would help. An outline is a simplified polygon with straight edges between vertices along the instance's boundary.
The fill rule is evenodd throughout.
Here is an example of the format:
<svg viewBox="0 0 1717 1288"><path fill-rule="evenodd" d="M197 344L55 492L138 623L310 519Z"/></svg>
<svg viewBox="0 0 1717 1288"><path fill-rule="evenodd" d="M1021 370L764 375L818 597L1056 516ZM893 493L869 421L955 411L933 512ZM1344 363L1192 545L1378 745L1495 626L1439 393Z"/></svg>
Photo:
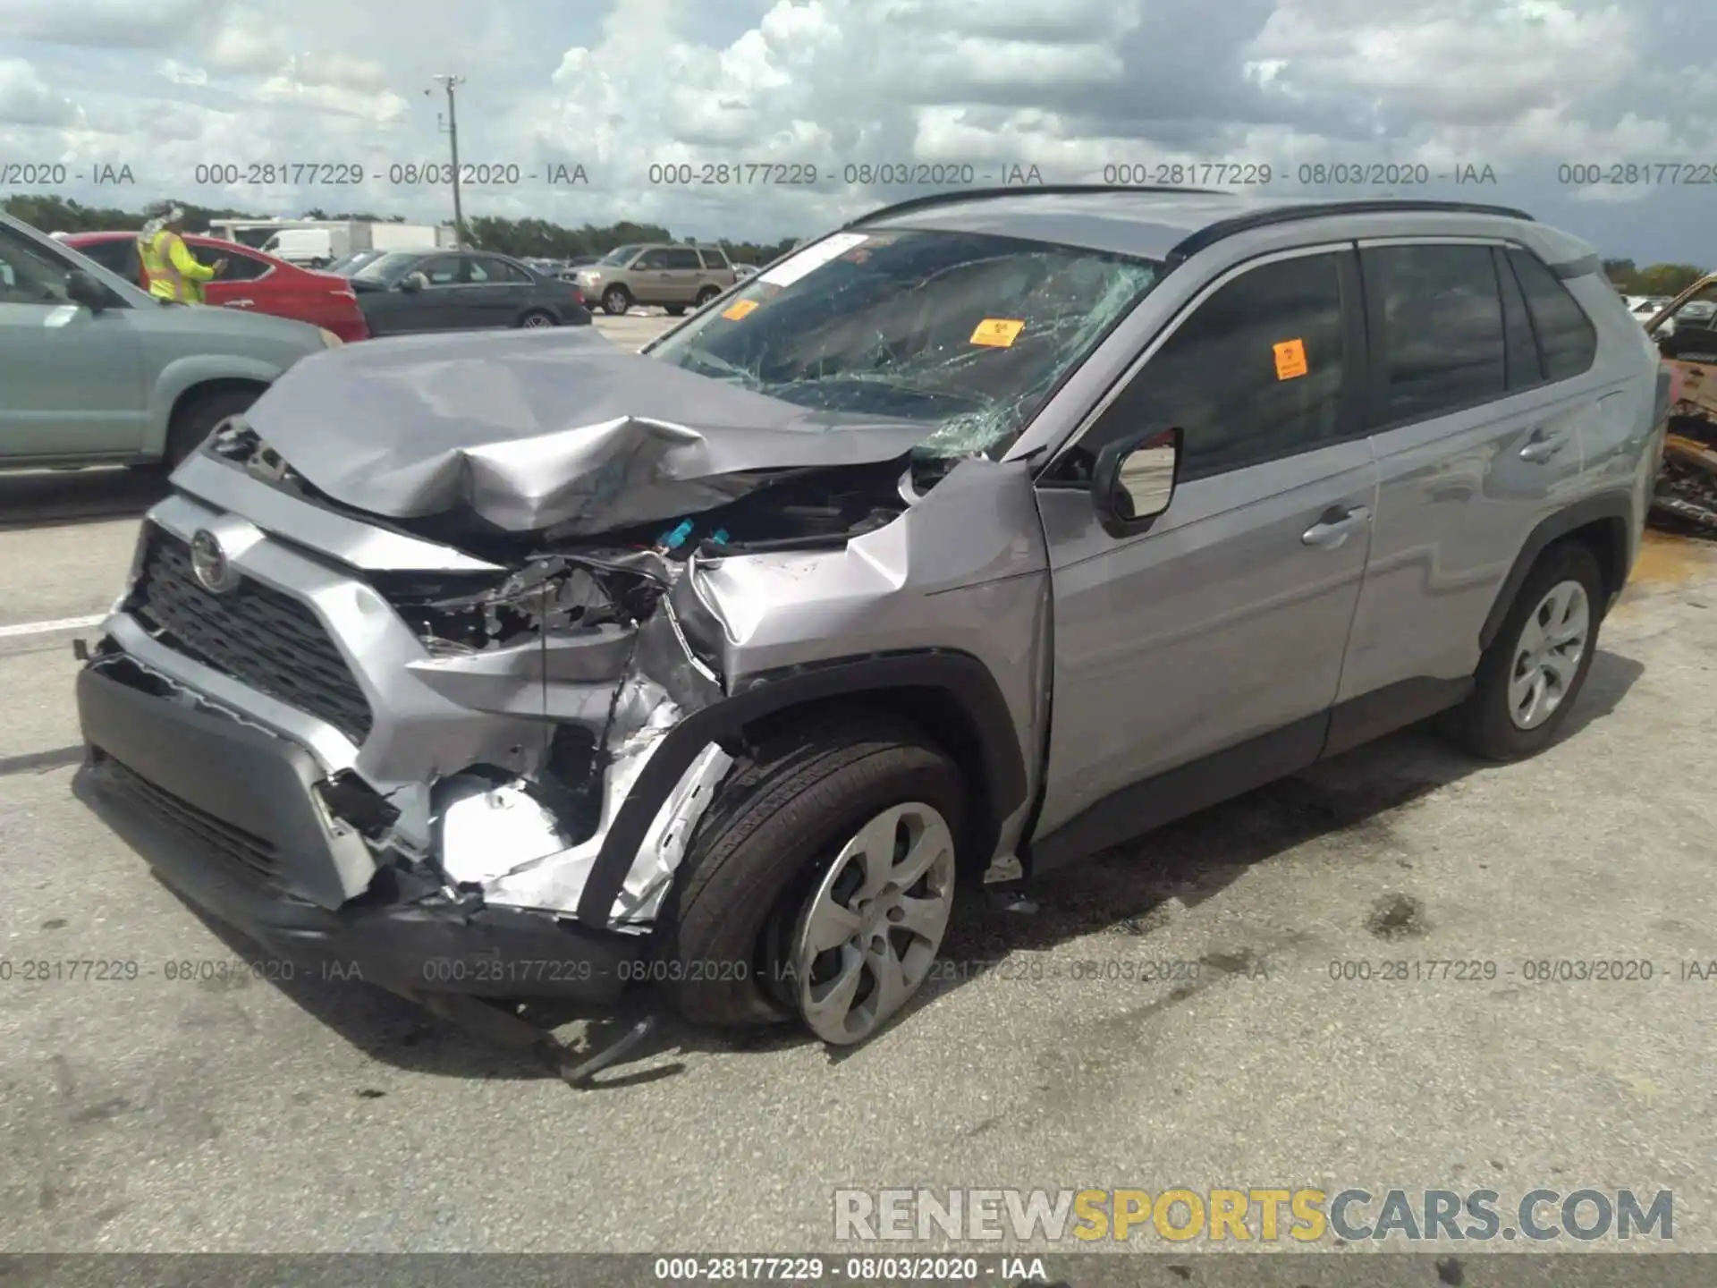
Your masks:
<svg viewBox="0 0 1717 1288"><path fill-rule="evenodd" d="M1554 694L1550 709L1547 713L1528 709L1528 720L1523 721L1516 716L1514 702L1520 689L1511 694L1511 687L1521 663L1528 661L1523 656L1523 649L1530 642L1526 639L1528 629L1535 623L1542 629L1547 615L1556 617L1557 605L1552 601L1552 592L1585 599L1585 632L1578 654L1573 653L1571 644L1549 651L1549 656L1559 658L1559 666L1525 668L1528 673L1538 670L1545 677L1545 683L1549 683L1552 670L1561 671L1566 678L1562 683L1549 683ZM1583 543L1561 541L1544 551L1514 596L1497 637L1478 659L1478 670L1473 673L1473 692L1449 713L1447 730L1456 742L1487 761L1520 761L1549 747L1587 683L1592 654L1597 651L1605 598L1604 574ZM1554 620L1552 630L1556 630ZM1530 685L1523 687L1530 692ZM1533 721L1532 716L1537 720Z"/></svg>

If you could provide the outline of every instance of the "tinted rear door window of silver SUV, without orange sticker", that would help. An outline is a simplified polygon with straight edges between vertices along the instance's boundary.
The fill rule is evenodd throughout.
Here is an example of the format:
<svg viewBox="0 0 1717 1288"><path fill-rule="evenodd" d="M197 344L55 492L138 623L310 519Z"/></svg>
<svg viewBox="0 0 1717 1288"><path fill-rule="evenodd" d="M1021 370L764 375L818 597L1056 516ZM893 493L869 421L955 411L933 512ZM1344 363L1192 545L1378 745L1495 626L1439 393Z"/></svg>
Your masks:
<svg viewBox="0 0 1717 1288"><path fill-rule="evenodd" d="M1380 246L1362 252L1382 314L1382 424L1508 393L1502 295L1489 246Z"/></svg>

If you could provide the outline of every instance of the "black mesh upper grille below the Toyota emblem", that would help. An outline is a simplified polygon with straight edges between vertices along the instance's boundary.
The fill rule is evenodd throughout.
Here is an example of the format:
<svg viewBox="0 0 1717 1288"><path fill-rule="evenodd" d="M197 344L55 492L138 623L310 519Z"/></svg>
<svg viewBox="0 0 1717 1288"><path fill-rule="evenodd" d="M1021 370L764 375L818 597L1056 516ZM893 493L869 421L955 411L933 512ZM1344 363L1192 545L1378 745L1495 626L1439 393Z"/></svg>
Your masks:
<svg viewBox="0 0 1717 1288"><path fill-rule="evenodd" d="M352 668L321 618L290 594L251 577L213 594L191 570L191 548L153 529L127 608L187 658L325 720L352 742L369 737L374 714Z"/></svg>

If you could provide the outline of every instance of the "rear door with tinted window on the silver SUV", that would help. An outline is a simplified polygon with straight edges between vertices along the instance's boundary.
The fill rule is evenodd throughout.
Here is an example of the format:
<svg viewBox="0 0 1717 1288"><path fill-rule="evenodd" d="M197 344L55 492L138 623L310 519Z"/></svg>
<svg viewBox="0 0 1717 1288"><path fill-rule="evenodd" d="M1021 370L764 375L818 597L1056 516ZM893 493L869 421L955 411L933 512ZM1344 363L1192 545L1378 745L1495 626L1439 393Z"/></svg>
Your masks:
<svg viewBox="0 0 1717 1288"><path fill-rule="evenodd" d="M1502 242L1362 244L1379 500L1343 701L1435 706L1447 694L1437 682L1471 675L1514 556L1578 484L1580 426L1597 407L1571 378L1592 366L1597 335L1568 299L1583 335L1547 368L1518 256L1535 289L1542 275L1566 297L1549 268Z"/></svg>

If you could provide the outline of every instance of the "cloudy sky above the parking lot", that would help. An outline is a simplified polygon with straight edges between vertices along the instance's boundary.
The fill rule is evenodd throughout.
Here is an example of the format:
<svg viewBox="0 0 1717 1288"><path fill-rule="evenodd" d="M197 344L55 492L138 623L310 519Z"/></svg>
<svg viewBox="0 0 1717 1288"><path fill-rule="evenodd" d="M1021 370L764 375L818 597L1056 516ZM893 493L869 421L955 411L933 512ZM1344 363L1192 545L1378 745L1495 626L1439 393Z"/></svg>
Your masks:
<svg viewBox="0 0 1717 1288"><path fill-rule="evenodd" d="M1269 167L1281 194L1396 167L1326 191L1504 201L1605 254L1710 264L1714 48L1708 0L0 0L0 194L45 163L34 191L100 204L445 220L409 167L446 160L424 89L457 72L462 160L500 180L467 216L773 239L912 194L846 167ZM721 163L742 182L651 182ZM94 185L120 167L132 185Z"/></svg>

